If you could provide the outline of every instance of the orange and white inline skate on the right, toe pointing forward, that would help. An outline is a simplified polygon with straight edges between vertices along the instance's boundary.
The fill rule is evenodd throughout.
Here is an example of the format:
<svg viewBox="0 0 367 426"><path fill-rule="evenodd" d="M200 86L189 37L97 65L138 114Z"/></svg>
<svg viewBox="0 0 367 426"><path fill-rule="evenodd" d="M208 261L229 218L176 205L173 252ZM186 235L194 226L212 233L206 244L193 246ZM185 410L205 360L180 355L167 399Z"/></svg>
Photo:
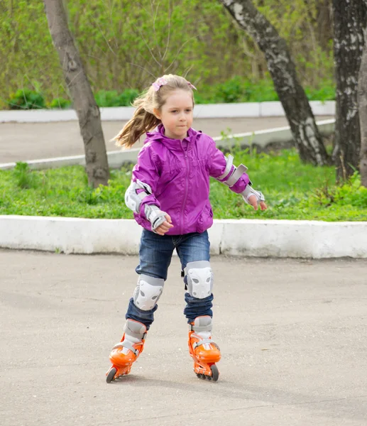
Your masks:
<svg viewBox="0 0 367 426"><path fill-rule="evenodd" d="M194 371L198 378L217 381L218 367L215 365L221 359L219 346L212 341L212 318L197 317L189 325L189 351L194 360Z"/></svg>

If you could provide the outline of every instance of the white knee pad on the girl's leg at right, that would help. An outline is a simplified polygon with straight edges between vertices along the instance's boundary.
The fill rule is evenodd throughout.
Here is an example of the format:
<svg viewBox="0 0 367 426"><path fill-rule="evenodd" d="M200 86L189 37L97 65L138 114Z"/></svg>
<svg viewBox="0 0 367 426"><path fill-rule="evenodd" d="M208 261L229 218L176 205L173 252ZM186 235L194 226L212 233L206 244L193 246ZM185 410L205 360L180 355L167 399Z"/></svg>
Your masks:
<svg viewBox="0 0 367 426"><path fill-rule="evenodd" d="M212 294L213 273L208 261L187 263L185 268L187 291L192 297L204 299Z"/></svg>

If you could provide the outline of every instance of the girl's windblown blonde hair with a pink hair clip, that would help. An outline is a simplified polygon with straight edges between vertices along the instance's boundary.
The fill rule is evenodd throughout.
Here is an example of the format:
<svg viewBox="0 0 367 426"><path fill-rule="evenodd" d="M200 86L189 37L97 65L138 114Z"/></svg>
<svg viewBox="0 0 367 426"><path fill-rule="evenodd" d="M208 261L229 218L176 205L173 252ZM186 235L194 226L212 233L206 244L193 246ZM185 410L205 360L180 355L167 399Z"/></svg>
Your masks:
<svg viewBox="0 0 367 426"><path fill-rule="evenodd" d="M162 81L164 83L160 84ZM155 86L153 86L153 84ZM192 84L184 77L172 74L163 75L155 80L153 84L133 102L133 107L136 107L133 118L130 119L120 133L112 139L116 141L117 146L130 148L138 141L141 135L153 130L161 123L160 119L153 114L153 110L158 109L158 111L160 111L170 92L177 89L186 90L191 93L192 104L194 104ZM159 87L159 89L157 90L156 87Z"/></svg>

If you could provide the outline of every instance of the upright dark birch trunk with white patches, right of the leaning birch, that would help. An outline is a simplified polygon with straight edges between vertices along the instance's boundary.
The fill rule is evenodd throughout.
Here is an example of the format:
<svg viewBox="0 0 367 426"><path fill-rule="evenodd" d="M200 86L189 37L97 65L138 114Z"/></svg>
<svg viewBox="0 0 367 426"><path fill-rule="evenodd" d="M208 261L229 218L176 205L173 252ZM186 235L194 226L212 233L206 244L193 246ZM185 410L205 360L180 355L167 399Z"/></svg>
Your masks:
<svg viewBox="0 0 367 426"><path fill-rule="evenodd" d="M336 122L333 158L336 178L358 168L361 148L357 83L364 45L366 6L363 0L333 0Z"/></svg>

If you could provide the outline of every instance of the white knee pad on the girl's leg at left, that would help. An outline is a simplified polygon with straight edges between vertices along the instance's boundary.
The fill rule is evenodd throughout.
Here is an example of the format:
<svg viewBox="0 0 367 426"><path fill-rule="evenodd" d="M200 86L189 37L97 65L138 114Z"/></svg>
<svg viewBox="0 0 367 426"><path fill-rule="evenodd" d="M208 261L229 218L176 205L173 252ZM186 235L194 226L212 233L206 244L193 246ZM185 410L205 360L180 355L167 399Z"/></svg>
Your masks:
<svg viewBox="0 0 367 426"><path fill-rule="evenodd" d="M141 310L153 309L163 292L164 283L163 278L139 275L138 284L133 292L134 305Z"/></svg>

